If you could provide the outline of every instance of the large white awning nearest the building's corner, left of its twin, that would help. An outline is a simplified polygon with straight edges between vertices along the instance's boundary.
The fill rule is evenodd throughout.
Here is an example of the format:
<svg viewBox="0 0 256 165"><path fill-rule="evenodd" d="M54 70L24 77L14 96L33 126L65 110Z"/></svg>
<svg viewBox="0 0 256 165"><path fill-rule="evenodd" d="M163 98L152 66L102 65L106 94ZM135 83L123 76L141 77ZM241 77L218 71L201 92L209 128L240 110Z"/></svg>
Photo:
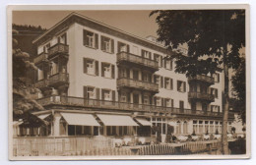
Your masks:
<svg viewBox="0 0 256 165"><path fill-rule="evenodd" d="M60 113L69 125L100 126L93 115L78 113Z"/></svg>

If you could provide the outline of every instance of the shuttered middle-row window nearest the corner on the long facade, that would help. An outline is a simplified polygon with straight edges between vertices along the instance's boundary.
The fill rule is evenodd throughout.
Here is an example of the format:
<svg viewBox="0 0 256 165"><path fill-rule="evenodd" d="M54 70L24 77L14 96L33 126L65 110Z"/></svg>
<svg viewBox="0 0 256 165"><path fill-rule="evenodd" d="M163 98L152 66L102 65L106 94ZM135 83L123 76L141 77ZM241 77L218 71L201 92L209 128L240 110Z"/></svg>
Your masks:
<svg viewBox="0 0 256 165"><path fill-rule="evenodd" d="M84 58L84 73L98 76L98 61Z"/></svg>

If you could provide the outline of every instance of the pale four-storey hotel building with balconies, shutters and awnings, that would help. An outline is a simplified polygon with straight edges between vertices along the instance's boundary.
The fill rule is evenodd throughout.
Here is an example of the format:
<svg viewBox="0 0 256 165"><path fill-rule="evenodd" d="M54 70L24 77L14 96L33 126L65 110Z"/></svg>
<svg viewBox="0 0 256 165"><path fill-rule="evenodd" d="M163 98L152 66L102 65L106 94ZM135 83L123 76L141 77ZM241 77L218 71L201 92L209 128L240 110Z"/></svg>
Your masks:
<svg viewBox="0 0 256 165"><path fill-rule="evenodd" d="M174 72L162 44L73 13L33 41L40 136L157 137L222 132L224 75ZM229 116L229 120L232 120ZM25 133L27 134L27 133Z"/></svg>

